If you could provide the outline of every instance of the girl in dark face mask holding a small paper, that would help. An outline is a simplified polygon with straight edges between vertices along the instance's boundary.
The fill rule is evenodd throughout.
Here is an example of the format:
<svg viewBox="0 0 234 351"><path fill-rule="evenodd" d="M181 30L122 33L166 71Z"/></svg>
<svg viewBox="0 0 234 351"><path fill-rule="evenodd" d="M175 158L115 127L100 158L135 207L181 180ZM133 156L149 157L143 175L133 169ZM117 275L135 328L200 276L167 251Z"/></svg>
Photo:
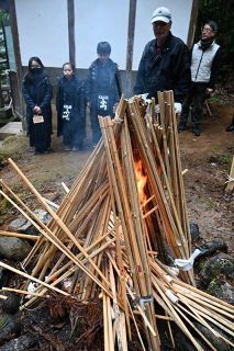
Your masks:
<svg viewBox="0 0 234 351"><path fill-rule="evenodd" d="M26 103L26 123L30 146L35 155L47 154L52 143L52 97L53 88L44 72L42 60L33 56L22 82L22 94Z"/></svg>

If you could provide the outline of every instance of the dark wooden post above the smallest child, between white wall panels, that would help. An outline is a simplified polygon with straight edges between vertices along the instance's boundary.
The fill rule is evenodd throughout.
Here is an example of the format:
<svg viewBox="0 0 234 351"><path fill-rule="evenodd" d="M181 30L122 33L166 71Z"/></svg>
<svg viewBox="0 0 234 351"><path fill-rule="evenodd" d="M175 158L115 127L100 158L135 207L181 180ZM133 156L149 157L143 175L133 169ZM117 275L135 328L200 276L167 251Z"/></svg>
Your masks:
<svg viewBox="0 0 234 351"><path fill-rule="evenodd" d="M67 0L68 10L68 42L69 61L76 67L76 46L75 46L75 5L74 0Z"/></svg>

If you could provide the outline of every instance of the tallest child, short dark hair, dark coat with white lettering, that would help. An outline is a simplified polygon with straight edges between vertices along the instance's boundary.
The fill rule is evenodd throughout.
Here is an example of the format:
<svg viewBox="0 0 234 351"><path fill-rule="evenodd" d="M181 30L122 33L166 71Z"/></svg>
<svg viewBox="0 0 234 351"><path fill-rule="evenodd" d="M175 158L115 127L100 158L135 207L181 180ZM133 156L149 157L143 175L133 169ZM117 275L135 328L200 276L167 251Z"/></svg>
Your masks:
<svg viewBox="0 0 234 351"><path fill-rule="evenodd" d="M98 116L114 116L114 106L119 102L115 73L118 64L111 58L111 45L108 42L100 42L97 46L98 58L90 65L86 99L90 107L90 122L92 129L92 145L94 146L100 137L101 129Z"/></svg>

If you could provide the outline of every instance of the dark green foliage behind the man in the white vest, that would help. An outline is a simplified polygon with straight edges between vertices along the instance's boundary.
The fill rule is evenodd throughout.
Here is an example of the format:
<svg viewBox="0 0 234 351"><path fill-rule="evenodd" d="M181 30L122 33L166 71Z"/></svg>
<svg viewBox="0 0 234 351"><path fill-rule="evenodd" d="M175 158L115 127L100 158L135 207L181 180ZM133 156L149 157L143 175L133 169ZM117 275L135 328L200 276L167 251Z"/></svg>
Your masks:
<svg viewBox="0 0 234 351"><path fill-rule="evenodd" d="M222 47L220 76L229 78L234 68L234 1L199 0L196 41L200 38L201 26L209 20L218 23L216 42Z"/></svg>

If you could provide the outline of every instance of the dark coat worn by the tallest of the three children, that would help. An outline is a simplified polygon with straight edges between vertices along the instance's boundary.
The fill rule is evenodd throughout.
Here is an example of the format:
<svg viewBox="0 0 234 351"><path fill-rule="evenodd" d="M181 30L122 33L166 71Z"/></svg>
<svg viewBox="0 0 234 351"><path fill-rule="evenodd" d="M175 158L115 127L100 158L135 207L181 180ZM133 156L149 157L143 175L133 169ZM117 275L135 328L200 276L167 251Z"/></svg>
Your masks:
<svg viewBox="0 0 234 351"><path fill-rule="evenodd" d="M118 72L118 65L110 58L105 65L102 65L97 58L89 67L86 99L91 102L93 109L97 107L99 94L109 97L109 110L112 110L113 105L118 103L115 72Z"/></svg>

